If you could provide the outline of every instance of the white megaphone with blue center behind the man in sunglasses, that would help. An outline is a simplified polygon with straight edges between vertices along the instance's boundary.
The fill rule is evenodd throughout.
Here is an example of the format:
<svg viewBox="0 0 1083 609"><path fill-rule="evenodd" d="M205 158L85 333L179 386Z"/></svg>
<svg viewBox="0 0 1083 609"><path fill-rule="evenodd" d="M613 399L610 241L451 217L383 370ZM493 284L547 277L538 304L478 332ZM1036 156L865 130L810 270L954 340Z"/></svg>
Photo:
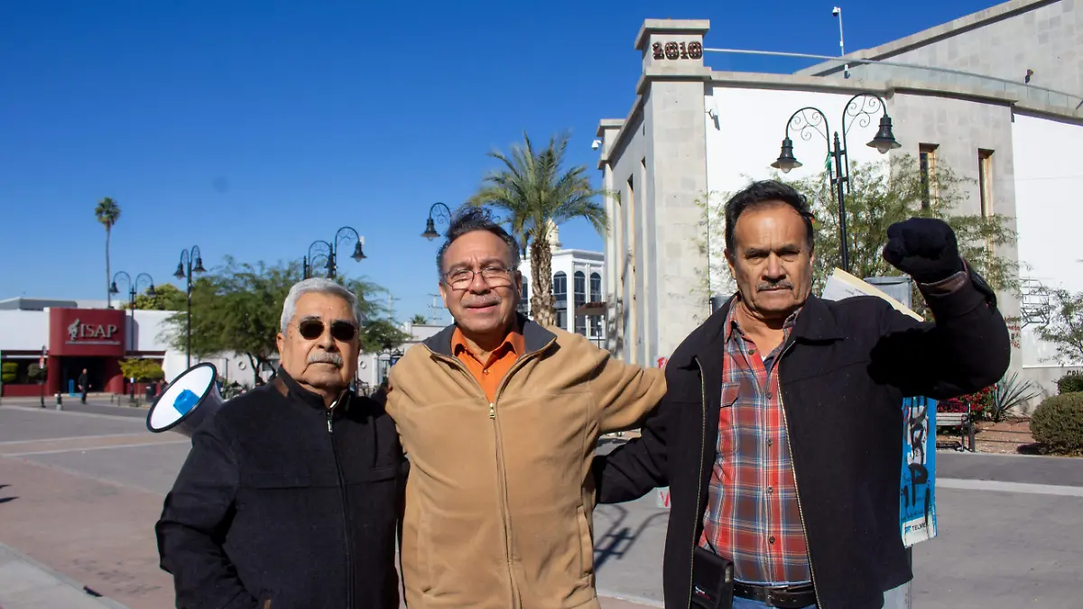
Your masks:
<svg viewBox="0 0 1083 609"><path fill-rule="evenodd" d="M155 433L173 430L191 438L203 422L222 407L224 400L217 379L218 368L209 362L181 373L154 401L146 415L146 428Z"/></svg>

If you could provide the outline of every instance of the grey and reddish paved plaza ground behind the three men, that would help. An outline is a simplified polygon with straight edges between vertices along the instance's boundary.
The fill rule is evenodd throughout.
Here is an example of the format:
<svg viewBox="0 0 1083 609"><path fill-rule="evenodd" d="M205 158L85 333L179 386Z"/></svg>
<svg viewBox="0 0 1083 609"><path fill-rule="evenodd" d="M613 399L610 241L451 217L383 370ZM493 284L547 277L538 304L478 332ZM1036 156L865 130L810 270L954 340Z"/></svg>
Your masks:
<svg viewBox="0 0 1083 609"><path fill-rule="evenodd" d="M145 409L47 405L0 404L0 609L172 607L153 526L188 440L148 432ZM914 607L1078 605L1083 459L939 452L937 467ZM605 609L662 606L665 532L653 495L596 510Z"/></svg>

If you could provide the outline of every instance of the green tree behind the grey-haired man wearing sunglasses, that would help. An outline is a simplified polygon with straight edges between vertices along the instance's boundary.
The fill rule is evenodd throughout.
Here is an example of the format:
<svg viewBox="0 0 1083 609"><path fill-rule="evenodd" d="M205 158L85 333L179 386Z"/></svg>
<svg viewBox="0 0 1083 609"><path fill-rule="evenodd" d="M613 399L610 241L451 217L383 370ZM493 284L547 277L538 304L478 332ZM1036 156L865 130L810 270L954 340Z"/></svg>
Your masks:
<svg viewBox="0 0 1083 609"><path fill-rule="evenodd" d="M374 298L381 288L362 280L337 277L354 294L363 319L384 314ZM299 262L268 265L240 263L226 258L221 269L208 272L192 286L192 352L206 358L218 353L243 353L248 358L253 381L259 371L277 353L282 307L289 288L301 281ZM174 349L186 345L184 311L166 321Z"/></svg>

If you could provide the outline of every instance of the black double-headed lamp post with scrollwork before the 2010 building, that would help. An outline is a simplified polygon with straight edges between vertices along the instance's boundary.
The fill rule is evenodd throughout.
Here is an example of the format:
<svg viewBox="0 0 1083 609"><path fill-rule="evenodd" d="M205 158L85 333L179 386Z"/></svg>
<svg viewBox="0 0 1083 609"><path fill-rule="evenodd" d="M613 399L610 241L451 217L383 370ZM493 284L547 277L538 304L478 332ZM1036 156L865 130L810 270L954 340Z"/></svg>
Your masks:
<svg viewBox="0 0 1083 609"><path fill-rule="evenodd" d="M846 134L854 122L861 127L867 127L873 119L873 115L883 111L884 115L879 119L879 130L869 142L869 146L876 148L880 154L901 146L895 141L891 133L891 117L887 115L887 105L884 99L873 93L858 93L850 98L843 109L843 137L839 141L838 131L834 132L834 145L828 137L831 128L827 126L827 117L823 112L812 106L806 106L793 114L786 121L785 137L782 139L782 152L779 158L771 164L771 167L788 173L791 169L796 169L801 164L794 157L794 142L790 139L790 129L796 129L803 140L812 138L812 132L817 132L827 142L827 157L835 159L834 171L831 164L827 165L827 177L831 185L835 187L835 196L838 197L838 237L839 255L843 259L843 270L850 271L849 244L846 233L846 193L850 191L850 169L849 155L847 154Z"/></svg>

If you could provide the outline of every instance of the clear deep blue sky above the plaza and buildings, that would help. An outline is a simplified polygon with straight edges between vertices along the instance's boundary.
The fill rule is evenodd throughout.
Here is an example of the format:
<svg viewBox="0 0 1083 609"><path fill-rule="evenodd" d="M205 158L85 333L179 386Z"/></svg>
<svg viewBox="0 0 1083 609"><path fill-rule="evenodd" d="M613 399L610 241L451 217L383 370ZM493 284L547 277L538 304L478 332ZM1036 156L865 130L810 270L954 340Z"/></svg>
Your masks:
<svg viewBox="0 0 1083 609"><path fill-rule="evenodd" d="M992 5L841 3L848 50ZM368 258L343 272L428 313L453 207L525 129L573 133L593 170L599 118L624 117L644 17L708 18L708 47L837 54L830 2L11 0L0 7L0 298L105 297L95 203L122 209L113 271L174 281L204 263L299 260L342 225ZM901 9L901 10L900 10ZM707 54L718 69L812 62ZM600 249L585 223L565 247ZM446 318L445 318L446 320Z"/></svg>

